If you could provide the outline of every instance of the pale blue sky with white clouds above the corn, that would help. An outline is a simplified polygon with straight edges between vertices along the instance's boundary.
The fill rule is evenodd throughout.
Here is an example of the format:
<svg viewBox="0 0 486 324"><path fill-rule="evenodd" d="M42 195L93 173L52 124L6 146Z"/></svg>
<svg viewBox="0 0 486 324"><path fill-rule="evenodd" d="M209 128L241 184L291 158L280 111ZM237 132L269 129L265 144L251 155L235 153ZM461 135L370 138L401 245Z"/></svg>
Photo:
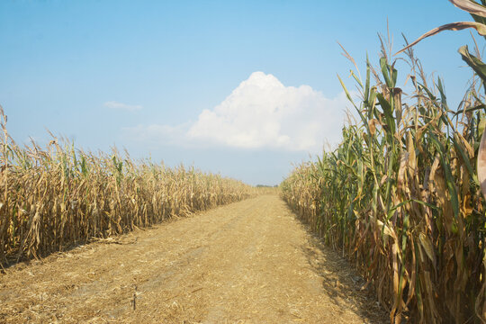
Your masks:
<svg viewBox="0 0 486 324"><path fill-rule="evenodd" d="M337 40L360 68L366 53L376 64L387 19L396 50L401 32L471 20L446 0L4 0L0 104L18 143L45 143L47 128L78 148L279 184L338 142L337 74L354 84ZM416 47L453 107L471 76L456 50L471 43L448 31Z"/></svg>

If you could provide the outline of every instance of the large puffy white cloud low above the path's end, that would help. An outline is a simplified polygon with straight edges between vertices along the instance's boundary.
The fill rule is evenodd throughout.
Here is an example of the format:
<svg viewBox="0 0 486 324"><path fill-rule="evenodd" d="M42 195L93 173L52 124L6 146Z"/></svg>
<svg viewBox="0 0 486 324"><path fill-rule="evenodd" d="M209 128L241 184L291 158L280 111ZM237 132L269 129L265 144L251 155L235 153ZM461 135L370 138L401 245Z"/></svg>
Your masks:
<svg viewBox="0 0 486 324"><path fill-rule="evenodd" d="M285 86L275 76L254 72L197 121L179 126L152 124L130 129L142 141L274 148L318 153L337 144L348 106L345 94L326 98L309 85Z"/></svg>

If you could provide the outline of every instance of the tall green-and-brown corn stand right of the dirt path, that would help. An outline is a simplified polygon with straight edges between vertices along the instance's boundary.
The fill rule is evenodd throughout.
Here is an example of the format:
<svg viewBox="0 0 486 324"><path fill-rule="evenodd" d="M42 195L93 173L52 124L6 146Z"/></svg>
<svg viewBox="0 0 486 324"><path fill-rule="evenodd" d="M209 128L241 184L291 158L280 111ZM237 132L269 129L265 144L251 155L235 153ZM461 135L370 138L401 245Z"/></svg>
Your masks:
<svg viewBox="0 0 486 324"><path fill-rule="evenodd" d="M387 50L379 67L367 60L365 82L352 73L360 103L345 87L358 121L338 148L297 166L282 195L356 263L392 322L484 322L486 218L475 171L482 84L453 112L440 78L428 85L407 53L412 92L397 87Z"/></svg>

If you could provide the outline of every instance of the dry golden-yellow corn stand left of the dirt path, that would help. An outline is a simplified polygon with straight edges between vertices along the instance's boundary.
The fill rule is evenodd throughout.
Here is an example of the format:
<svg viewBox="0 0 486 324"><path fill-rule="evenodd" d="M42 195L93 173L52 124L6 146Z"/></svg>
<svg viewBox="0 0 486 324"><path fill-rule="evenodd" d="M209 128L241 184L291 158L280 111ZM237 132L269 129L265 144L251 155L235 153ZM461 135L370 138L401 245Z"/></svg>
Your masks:
<svg viewBox="0 0 486 324"><path fill-rule="evenodd" d="M256 194L193 167L135 163L116 149L85 153L56 139L20 148L1 109L0 118L0 266Z"/></svg>

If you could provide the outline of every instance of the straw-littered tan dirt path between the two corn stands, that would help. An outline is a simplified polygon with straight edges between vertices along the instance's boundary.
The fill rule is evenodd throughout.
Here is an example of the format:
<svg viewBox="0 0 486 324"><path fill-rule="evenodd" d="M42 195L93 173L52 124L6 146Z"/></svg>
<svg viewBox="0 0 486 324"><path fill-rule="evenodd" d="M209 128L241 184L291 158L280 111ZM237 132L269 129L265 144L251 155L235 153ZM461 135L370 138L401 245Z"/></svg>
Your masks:
<svg viewBox="0 0 486 324"><path fill-rule="evenodd" d="M13 266L0 322L386 322L363 284L265 195Z"/></svg>

